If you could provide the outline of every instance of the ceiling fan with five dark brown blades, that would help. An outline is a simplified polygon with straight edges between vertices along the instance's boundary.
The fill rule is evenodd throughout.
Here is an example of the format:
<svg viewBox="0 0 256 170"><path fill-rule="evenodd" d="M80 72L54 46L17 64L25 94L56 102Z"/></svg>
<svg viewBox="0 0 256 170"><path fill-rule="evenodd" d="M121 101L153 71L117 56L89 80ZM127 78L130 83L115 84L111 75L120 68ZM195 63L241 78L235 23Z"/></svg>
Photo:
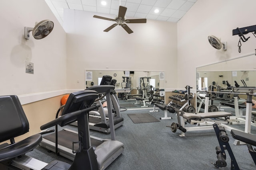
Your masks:
<svg viewBox="0 0 256 170"><path fill-rule="evenodd" d="M124 30L130 34L133 33L133 31L125 24L125 23L146 23L147 20L144 19L131 19L131 20L126 20L126 13L127 8L124 6L119 6L119 12L118 15L116 16L115 19L111 19L111 18L105 18L105 17L101 17L101 16L93 16L94 18L99 18L102 20L109 20L109 21L115 21L116 23L114 23L113 25L111 25L110 27L108 27L107 29L105 29L105 32L110 31L112 28L114 28L116 25L121 25Z"/></svg>

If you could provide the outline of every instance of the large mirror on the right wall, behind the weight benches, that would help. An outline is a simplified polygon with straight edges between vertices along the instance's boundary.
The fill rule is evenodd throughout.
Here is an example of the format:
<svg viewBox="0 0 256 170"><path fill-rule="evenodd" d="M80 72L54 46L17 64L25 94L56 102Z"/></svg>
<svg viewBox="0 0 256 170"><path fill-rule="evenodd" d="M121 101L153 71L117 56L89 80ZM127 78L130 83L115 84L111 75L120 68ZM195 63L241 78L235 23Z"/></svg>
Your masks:
<svg viewBox="0 0 256 170"><path fill-rule="evenodd" d="M214 91L225 92L225 90L231 90L234 88L256 87L256 56L255 54L244 55L237 57L236 59L231 59L229 61L224 61L220 63L209 64L206 66L201 66L196 68L196 83L197 90L208 90L209 87L214 87ZM238 89L236 89L238 90ZM239 89L239 91L246 91ZM248 91L248 89L247 89ZM227 92L227 91L226 91ZM227 92L228 93L228 92ZM239 117L245 115L245 100L246 95L238 95L238 104L241 105L240 109L234 108L234 96L227 93L217 93L217 100L211 101L209 105L214 105L218 107L218 110L223 110L231 113L239 113ZM199 102L202 103L204 95L198 97ZM256 97L252 97L256 100ZM203 107L197 108L197 112L204 112ZM213 107L214 108L214 107ZM256 108L256 107L255 107ZM254 107L253 107L254 109ZM254 109L256 111L256 109ZM243 114L243 115L242 115Z"/></svg>

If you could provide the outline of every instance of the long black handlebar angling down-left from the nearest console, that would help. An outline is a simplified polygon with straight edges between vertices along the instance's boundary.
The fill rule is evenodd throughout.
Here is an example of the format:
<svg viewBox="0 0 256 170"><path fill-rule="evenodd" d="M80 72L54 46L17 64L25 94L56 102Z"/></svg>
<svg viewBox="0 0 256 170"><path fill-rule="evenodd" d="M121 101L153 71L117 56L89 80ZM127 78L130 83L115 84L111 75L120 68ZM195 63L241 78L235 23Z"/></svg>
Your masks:
<svg viewBox="0 0 256 170"><path fill-rule="evenodd" d="M78 110L78 111L74 111L74 112L71 112L71 113L68 113L68 114L65 114L65 115L62 115L61 117L58 117L57 119L54 119L44 125L42 125L40 127L41 130L44 130L44 129L48 129L54 125L60 125L62 126L62 122L67 120L67 119L72 119L72 118L75 118L77 117L78 115L80 115L81 113L84 113L86 112L86 114L88 114L89 111L91 110L94 110L96 108L100 107L99 104L96 104L94 106L91 106L91 107L88 107L88 108L85 108L85 109L81 109L81 110Z"/></svg>

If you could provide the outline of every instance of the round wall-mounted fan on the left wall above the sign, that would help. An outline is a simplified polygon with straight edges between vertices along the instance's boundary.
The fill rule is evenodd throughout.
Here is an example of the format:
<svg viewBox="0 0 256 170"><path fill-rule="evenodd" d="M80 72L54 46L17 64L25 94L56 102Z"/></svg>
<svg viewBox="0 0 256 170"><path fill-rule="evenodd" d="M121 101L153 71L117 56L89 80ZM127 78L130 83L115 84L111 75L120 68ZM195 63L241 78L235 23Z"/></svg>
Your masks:
<svg viewBox="0 0 256 170"><path fill-rule="evenodd" d="M29 39L30 31L32 31L32 35L35 39L42 39L52 32L53 27L54 27L54 23L50 20L40 21L38 24L36 24L34 28L25 27L24 28L25 39Z"/></svg>

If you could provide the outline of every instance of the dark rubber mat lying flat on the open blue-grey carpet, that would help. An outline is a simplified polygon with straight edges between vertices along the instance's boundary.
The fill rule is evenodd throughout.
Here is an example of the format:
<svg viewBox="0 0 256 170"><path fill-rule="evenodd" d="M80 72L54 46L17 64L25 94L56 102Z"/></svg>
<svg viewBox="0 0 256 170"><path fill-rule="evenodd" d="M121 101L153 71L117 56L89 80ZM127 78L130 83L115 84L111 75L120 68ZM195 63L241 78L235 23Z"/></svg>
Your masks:
<svg viewBox="0 0 256 170"><path fill-rule="evenodd" d="M132 119L133 123L149 123L160 121L148 113L136 113L127 115L130 117L130 119Z"/></svg>

